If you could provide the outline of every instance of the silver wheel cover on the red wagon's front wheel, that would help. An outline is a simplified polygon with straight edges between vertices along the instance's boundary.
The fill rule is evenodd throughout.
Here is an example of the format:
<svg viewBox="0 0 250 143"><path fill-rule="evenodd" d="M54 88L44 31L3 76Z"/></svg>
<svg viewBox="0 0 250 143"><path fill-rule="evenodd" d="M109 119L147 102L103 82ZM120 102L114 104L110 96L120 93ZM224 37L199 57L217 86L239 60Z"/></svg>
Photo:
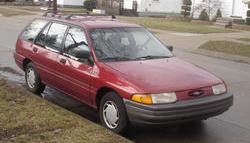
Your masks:
<svg viewBox="0 0 250 143"><path fill-rule="evenodd" d="M119 111L116 104L112 101L107 101L103 106L102 113L105 124L109 128L115 129L119 124Z"/></svg>

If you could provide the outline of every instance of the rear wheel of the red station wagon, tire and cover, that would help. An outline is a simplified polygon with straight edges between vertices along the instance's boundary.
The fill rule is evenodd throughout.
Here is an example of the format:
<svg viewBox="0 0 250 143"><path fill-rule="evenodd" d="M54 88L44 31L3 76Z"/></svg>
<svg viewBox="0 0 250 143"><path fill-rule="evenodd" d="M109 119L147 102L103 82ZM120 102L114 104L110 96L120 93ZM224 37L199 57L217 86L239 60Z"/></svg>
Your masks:
<svg viewBox="0 0 250 143"><path fill-rule="evenodd" d="M25 66L25 85L30 92L38 95L40 95L45 89L45 85L41 82L32 62Z"/></svg>

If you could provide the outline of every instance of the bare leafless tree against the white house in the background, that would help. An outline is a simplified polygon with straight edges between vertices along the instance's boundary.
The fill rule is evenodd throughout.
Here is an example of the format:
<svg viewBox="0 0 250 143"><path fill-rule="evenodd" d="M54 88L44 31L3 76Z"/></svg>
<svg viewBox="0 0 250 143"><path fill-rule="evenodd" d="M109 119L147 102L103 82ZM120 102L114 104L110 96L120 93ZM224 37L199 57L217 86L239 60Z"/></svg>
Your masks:
<svg viewBox="0 0 250 143"><path fill-rule="evenodd" d="M193 9L194 12L206 9L209 18L211 19L218 9L221 9L221 0L203 0Z"/></svg>

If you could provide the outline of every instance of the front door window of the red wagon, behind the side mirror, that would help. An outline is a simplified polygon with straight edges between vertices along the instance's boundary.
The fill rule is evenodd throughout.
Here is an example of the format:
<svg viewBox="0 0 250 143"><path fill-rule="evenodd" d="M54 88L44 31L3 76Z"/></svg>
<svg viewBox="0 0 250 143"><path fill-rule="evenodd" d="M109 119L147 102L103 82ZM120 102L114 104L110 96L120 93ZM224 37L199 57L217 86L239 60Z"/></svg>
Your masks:
<svg viewBox="0 0 250 143"><path fill-rule="evenodd" d="M82 29L72 27L66 36L64 53L76 57L75 54L79 49L89 49L87 40Z"/></svg>

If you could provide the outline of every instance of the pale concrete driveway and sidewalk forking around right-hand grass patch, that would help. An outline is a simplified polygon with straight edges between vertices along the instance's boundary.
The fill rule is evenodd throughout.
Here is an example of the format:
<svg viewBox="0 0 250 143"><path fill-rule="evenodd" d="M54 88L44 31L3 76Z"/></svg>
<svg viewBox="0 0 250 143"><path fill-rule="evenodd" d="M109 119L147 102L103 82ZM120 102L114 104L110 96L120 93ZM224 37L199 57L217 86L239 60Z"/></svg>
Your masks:
<svg viewBox="0 0 250 143"><path fill-rule="evenodd" d="M180 50L250 64L250 58L248 57L198 49L202 44L213 40L225 40L250 45L250 42L238 40L239 38L249 38L250 31L212 34L177 33L155 29L151 29L151 31L156 32L156 36L161 39L165 44L173 45L175 48L178 48Z"/></svg>

